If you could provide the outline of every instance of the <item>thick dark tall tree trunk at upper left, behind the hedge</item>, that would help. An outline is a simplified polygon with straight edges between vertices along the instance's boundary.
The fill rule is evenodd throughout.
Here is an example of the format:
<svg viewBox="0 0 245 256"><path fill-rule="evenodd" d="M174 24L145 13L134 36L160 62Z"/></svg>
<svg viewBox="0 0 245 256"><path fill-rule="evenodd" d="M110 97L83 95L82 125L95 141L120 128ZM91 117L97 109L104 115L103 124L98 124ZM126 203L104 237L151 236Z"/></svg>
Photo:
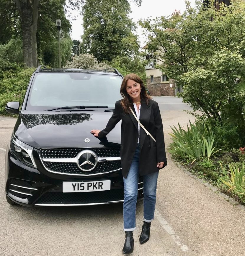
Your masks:
<svg viewBox="0 0 245 256"><path fill-rule="evenodd" d="M37 67L38 2L39 0L15 0L22 25L23 55L26 67Z"/></svg>

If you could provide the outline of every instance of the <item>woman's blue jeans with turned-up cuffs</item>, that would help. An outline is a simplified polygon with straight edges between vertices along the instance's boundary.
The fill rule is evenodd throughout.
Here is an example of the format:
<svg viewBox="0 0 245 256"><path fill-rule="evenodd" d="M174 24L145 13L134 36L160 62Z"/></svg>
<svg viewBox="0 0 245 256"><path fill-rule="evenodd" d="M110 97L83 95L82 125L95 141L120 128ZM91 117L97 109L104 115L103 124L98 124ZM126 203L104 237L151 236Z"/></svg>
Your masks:
<svg viewBox="0 0 245 256"><path fill-rule="evenodd" d="M124 231L133 231L136 228L136 202L139 182L139 144L135 150L133 161L130 166L127 178L124 182L123 220ZM157 163L156 163L157 164ZM156 184L158 172L143 176L144 184L144 220L151 222L154 219L156 205Z"/></svg>

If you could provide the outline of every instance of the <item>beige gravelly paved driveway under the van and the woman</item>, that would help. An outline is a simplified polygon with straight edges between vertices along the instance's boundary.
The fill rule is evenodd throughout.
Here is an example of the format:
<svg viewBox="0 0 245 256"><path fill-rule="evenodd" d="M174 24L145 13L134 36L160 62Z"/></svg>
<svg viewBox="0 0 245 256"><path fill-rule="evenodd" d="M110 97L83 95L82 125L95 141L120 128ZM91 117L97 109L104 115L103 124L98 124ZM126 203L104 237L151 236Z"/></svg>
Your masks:
<svg viewBox="0 0 245 256"><path fill-rule="evenodd" d="M185 127L193 118L181 99L159 102L166 145L169 125ZM172 102L172 103L171 103ZM4 155L15 119L0 117L0 255L122 255L122 204L90 207L27 208L5 202ZM179 169L167 153L160 171L151 238L138 242L143 205L137 205L132 256L244 256L245 211Z"/></svg>

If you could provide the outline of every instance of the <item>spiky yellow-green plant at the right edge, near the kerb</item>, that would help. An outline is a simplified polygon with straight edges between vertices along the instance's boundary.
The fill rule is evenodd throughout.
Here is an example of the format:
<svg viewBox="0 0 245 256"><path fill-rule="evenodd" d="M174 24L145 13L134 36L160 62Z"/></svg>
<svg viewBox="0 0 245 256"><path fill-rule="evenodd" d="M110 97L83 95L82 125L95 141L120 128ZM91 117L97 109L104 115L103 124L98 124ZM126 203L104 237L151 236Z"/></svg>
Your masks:
<svg viewBox="0 0 245 256"><path fill-rule="evenodd" d="M244 162L242 167L239 169L238 165L229 165L229 172L221 165L223 170L223 177L220 180L228 188L228 192L238 196L243 203L245 203L245 170Z"/></svg>

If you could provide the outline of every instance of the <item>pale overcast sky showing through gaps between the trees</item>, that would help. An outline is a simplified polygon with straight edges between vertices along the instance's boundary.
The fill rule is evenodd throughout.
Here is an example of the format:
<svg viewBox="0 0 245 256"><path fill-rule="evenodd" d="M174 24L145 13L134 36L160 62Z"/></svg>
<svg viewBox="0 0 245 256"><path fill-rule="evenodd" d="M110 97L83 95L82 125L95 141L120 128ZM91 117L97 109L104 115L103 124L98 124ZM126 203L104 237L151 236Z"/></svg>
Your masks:
<svg viewBox="0 0 245 256"><path fill-rule="evenodd" d="M195 0L189 0L191 3L191 6L195 6ZM130 1L131 5L131 13L130 18L133 19L133 21L137 24L138 20L140 19L146 19L148 17L160 17L160 16L169 16L171 15L174 10L183 12L185 10L185 3L184 0L142 0L142 4L140 7L138 7L133 1ZM75 15L76 13L72 13ZM79 15L75 21L72 21L72 33L71 33L71 39L72 40L80 40L81 41L81 35L83 33L82 28L82 16ZM70 20L71 21L71 20ZM139 36L139 41L141 46L143 46L145 43L144 35L142 34L141 30L142 28L137 25L136 32Z"/></svg>

